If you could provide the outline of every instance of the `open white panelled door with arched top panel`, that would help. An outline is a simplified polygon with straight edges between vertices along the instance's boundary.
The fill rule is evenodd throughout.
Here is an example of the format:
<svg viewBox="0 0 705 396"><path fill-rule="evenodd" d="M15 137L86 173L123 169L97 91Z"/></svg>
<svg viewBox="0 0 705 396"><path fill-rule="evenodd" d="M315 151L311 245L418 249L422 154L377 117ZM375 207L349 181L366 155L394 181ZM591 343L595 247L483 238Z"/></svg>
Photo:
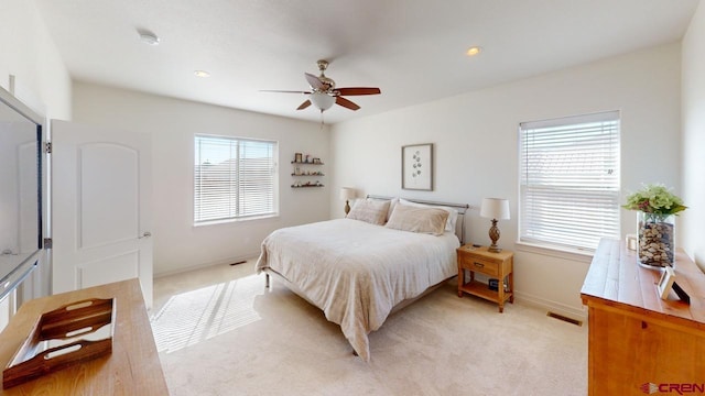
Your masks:
<svg viewBox="0 0 705 396"><path fill-rule="evenodd" d="M151 138L52 120L53 292L140 278L152 306Z"/></svg>

